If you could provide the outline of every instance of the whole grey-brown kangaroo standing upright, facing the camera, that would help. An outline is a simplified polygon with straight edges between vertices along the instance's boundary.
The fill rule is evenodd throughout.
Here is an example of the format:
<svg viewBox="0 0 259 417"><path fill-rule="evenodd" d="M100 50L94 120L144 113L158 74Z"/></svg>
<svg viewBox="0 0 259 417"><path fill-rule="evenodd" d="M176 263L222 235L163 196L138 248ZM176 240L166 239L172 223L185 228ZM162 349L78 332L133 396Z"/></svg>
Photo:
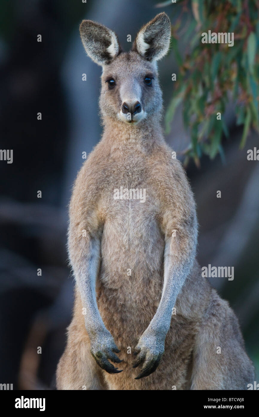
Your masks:
<svg viewBox="0 0 259 417"><path fill-rule="evenodd" d="M247 389L254 368L237 317L202 277L194 197L160 124L170 20L155 16L130 52L91 20L80 34L103 68L104 131L69 206L75 302L57 389Z"/></svg>

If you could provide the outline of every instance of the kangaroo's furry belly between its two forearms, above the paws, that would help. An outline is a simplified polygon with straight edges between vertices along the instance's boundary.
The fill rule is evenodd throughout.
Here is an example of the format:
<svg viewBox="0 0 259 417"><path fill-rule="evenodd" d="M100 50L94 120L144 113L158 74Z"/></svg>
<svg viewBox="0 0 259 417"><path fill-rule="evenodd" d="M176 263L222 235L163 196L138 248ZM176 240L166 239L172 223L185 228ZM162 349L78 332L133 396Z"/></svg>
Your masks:
<svg viewBox="0 0 259 417"><path fill-rule="evenodd" d="M113 334L117 326L118 333L132 332L135 339L148 326L162 293L163 251L164 238L148 206L127 202L123 216L107 219L97 301Z"/></svg>

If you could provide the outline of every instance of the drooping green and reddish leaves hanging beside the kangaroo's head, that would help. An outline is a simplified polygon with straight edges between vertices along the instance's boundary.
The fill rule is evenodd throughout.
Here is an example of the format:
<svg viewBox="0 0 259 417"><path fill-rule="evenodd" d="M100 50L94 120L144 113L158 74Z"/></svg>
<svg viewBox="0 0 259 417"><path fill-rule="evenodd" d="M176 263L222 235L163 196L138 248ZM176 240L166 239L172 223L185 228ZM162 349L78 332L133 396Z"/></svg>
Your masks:
<svg viewBox="0 0 259 417"><path fill-rule="evenodd" d="M222 137L229 135L224 112L230 100L237 125L244 126L240 148L251 128L259 131L259 2L177 0L173 4L170 0L158 6L162 5L170 5L172 19L178 15L172 25L170 53L179 71L165 116L166 132L182 104L183 121L190 130L185 164L193 158L199 165L202 154L214 158L220 153L224 158ZM229 38L223 38L224 33ZM178 47L182 37L187 42L185 54ZM219 42L222 39L225 43Z"/></svg>

